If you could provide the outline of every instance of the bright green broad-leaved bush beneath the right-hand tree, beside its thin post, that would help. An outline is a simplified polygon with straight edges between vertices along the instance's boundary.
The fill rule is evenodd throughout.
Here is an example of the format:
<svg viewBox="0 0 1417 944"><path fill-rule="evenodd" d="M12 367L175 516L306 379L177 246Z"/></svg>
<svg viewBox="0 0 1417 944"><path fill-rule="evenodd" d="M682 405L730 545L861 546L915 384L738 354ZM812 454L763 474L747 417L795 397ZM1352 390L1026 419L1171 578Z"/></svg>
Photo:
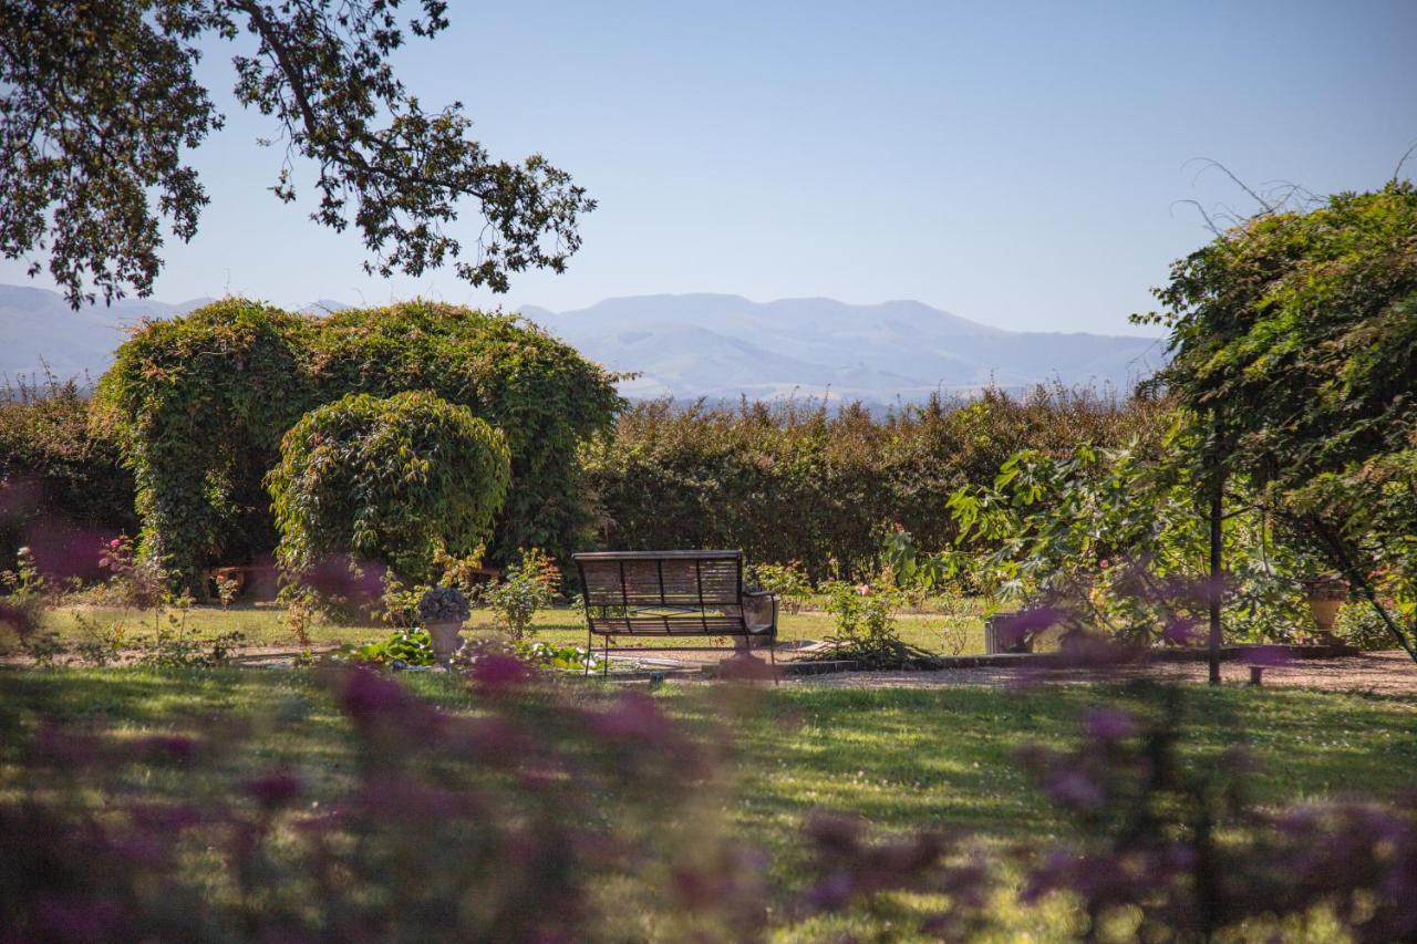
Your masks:
<svg viewBox="0 0 1417 944"><path fill-rule="evenodd" d="M989 598L990 612L1030 609L1034 629L1193 641L1209 601L1209 532L1192 469L1169 459L1183 435L1173 427L1117 449L1012 456L993 486L951 496L959 529L951 568ZM1233 635L1288 641L1301 625L1305 557L1255 510L1229 517L1221 539Z"/></svg>

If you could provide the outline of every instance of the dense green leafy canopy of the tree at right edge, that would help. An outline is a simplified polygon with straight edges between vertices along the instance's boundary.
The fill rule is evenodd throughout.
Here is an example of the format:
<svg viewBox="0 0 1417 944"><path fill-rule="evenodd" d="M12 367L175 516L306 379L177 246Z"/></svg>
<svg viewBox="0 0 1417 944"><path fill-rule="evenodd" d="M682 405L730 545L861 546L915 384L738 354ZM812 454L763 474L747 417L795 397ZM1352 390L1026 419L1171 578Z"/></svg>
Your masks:
<svg viewBox="0 0 1417 944"><path fill-rule="evenodd" d="M1305 213L1265 207L1172 265L1158 289L1193 456L1362 587L1386 570L1417 626L1417 187ZM1376 594L1374 594L1376 598ZM1408 635L1411 635L1408 632Z"/></svg>

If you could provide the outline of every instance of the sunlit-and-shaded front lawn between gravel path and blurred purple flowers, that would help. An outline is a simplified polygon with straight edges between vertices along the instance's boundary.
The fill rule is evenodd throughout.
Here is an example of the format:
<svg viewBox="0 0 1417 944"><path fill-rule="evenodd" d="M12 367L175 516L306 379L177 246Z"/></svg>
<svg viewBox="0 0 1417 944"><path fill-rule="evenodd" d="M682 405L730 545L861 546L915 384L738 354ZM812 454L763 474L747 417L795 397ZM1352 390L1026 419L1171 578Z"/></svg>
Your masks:
<svg viewBox="0 0 1417 944"><path fill-rule="evenodd" d="M478 710L478 696L452 676L402 678L453 712ZM588 700L606 696L597 682L577 692ZM738 835L772 853L774 879L786 887L798 882L801 824L820 808L863 816L886 831L959 826L996 849L1056 839L1063 824L1019 771L1015 751L1030 743L1066 744L1085 707L1129 697L1101 685L1022 690L784 685L727 706L723 693L721 686L666 686L656 697L701 733L721 730L710 721L731 713L728 729L738 736L728 754L733 777L724 814ZM1417 709L1407 700L1227 686L1190 689L1186 704L1186 755L1203 764L1237 741L1247 743L1263 802L1355 790L1393 797L1413 785ZM21 731L40 716L102 717L119 731L159 733L184 730L191 719L214 712L258 719L258 734L232 761L241 767L289 764L326 790L353 768L349 729L309 670L0 672L0 757L13 772ZM147 781L135 772L133 782ZM1066 937L1057 907L1012 909L1002 920L1002 940Z"/></svg>

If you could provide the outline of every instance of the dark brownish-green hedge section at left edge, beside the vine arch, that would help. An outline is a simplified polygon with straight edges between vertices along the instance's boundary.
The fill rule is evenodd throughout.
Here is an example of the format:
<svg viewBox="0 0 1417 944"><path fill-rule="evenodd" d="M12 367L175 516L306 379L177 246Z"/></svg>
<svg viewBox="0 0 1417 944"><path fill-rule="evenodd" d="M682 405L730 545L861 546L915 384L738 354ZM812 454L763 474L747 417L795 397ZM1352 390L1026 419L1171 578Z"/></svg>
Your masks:
<svg viewBox="0 0 1417 944"><path fill-rule="evenodd" d="M79 386L20 378L0 391L0 567L21 546L85 543L136 530L133 476L111 431L91 429ZM77 564L77 561L75 561ZM71 566L78 575L88 568Z"/></svg>

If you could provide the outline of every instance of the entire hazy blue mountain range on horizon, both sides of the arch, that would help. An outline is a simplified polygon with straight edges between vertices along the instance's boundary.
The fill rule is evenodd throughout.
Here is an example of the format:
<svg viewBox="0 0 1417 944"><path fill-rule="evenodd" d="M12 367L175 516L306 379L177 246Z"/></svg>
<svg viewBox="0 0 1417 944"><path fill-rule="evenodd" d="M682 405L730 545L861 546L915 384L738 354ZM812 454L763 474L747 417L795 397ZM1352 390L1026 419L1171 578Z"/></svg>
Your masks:
<svg viewBox="0 0 1417 944"><path fill-rule="evenodd" d="M0 285L0 376L96 380L123 330L208 303L123 299L78 312L47 289ZM320 299L303 310L339 310ZM939 390L1060 381L1128 388L1162 361L1152 337L1007 332L920 302L846 305L825 298L758 303L737 295L639 295L572 312L520 313L611 370L635 371L629 397L785 395L918 400Z"/></svg>

